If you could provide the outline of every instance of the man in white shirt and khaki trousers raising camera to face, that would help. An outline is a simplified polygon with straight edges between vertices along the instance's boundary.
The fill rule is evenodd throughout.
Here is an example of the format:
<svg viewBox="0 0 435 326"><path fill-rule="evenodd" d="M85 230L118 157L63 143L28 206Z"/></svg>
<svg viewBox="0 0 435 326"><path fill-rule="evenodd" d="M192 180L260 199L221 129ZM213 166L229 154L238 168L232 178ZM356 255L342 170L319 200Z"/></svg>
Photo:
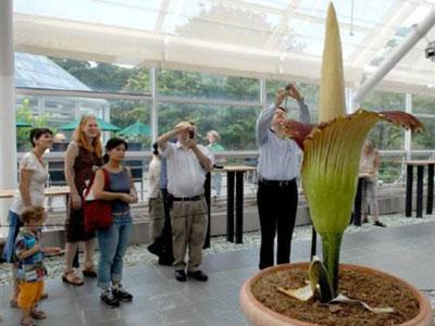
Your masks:
<svg viewBox="0 0 435 326"><path fill-rule="evenodd" d="M157 140L167 164L167 191L170 195L175 278L187 277L207 281L199 268L207 233L207 202L203 196L206 173L213 162L207 149L195 140L196 127L191 122L181 122L174 129ZM176 143L170 140L177 138ZM188 247L189 261L185 255Z"/></svg>

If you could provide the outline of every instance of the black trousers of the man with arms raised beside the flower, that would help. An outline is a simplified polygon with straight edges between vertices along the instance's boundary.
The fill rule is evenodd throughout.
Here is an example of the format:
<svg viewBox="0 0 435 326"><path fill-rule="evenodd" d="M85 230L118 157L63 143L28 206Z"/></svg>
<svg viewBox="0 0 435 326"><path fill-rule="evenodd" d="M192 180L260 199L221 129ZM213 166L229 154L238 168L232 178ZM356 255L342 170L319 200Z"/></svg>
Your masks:
<svg viewBox="0 0 435 326"><path fill-rule="evenodd" d="M289 263L291 237L298 208L296 180L285 183L259 181L257 203L261 227L260 269L274 265L276 234L276 263Z"/></svg>

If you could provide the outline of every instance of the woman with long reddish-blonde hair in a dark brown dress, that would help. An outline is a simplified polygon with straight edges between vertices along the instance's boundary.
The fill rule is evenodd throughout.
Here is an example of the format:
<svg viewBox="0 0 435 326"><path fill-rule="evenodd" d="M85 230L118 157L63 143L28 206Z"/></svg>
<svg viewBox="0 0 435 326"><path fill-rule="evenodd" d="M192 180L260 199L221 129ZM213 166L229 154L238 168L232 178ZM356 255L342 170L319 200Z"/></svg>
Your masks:
<svg viewBox="0 0 435 326"><path fill-rule="evenodd" d="M79 286L83 278L73 268L73 260L79 242L85 243L85 265L83 275L97 277L94 265L95 234L85 231L83 213L83 191L95 172L102 165L101 131L97 118L83 116L65 153L65 179L70 186L69 216L65 222L65 271L63 281Z"/></svg>

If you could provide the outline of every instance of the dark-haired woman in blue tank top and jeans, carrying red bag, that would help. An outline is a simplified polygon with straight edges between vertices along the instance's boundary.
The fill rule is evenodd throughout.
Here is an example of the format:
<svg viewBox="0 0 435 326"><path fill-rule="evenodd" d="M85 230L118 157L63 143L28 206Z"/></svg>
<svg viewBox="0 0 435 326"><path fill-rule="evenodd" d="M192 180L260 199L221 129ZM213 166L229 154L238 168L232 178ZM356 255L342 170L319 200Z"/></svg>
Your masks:
<svg viewBox="0 0 435 326"><path fill-rule="evenodd" d="M124 139L111 138L108 141L104 154L107 163L97 171L91 188L95 199L112 202L112 226L97 231L100 248L98 286L102 289L101 301L109 306L119 306L121 301L133 300L133 296L121 285L123 258L133 231L129 204L137 202L132 172L122 165L127 148ZM109 185L104 185L104 174L109 176Z"/></svg>

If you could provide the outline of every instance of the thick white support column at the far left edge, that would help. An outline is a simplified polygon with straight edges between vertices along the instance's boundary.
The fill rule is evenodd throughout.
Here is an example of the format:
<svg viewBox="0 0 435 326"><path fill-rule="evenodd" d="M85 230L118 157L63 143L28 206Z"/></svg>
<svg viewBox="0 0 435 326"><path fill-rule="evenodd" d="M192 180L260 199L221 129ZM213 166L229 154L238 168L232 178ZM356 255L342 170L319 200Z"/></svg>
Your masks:
<svg viewBox="0 0 435 326"><path fill-rule="evenodd" d="M13 49L13 1L0 1L0 189L16 188L16 130ZM8 160L7 160L8 158ZM0 223L7 223L10 201L0 201ZM7 228L0 228L4 236Z"/></svg>

